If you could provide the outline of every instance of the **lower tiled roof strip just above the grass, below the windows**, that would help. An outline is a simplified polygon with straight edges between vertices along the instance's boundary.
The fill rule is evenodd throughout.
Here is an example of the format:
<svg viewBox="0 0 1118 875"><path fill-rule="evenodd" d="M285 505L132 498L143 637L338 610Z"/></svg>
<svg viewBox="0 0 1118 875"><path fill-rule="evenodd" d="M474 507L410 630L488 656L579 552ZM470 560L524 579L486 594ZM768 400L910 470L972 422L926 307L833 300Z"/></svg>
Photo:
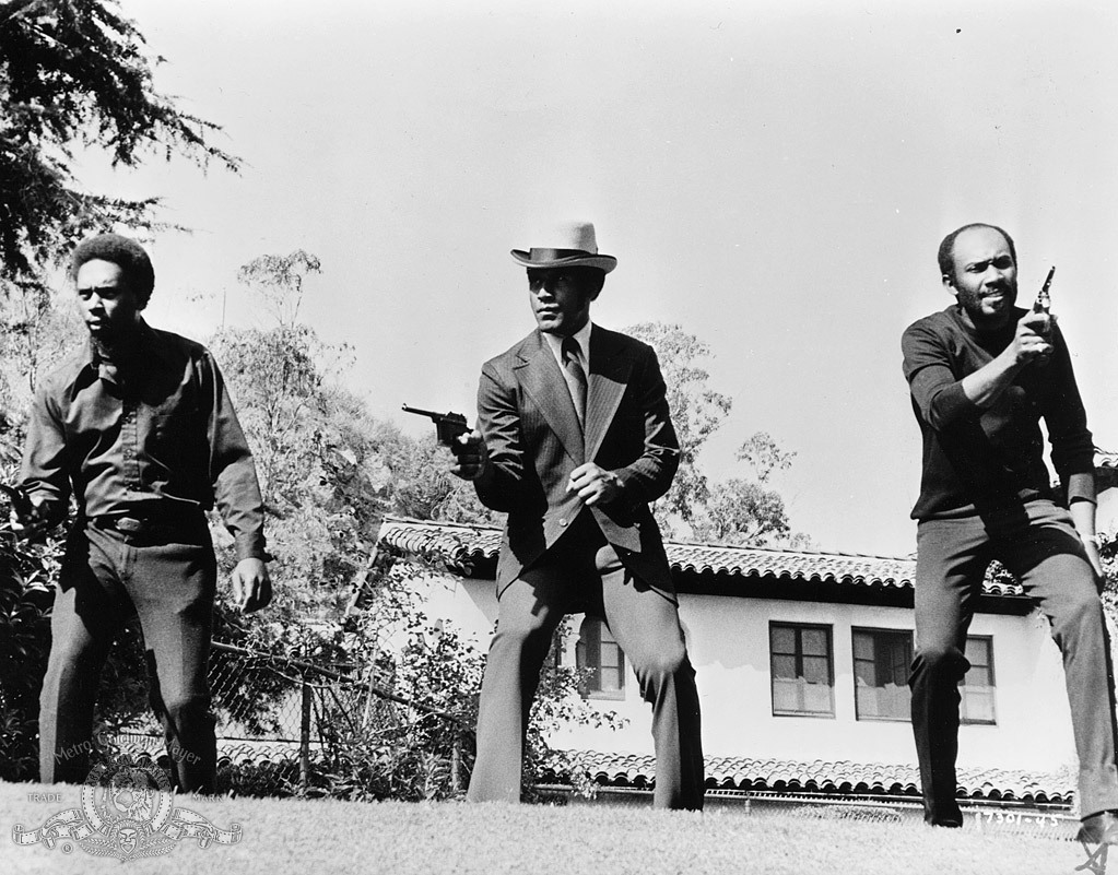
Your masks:
<svg viewBox="0 0 1118 875"><path fill-rule="evenodd" d="M920 797L917 765L849 761L755 760L708 757L707 787L778 793ZM566 783L572 769L601 787L651 788L655 759L651 754L558 751L544 771L544 782ZM1017 801L1070 806L1076 781L1071 770L1049 774L1008 769L958 769L958 796L983 801Z"/></svg>

